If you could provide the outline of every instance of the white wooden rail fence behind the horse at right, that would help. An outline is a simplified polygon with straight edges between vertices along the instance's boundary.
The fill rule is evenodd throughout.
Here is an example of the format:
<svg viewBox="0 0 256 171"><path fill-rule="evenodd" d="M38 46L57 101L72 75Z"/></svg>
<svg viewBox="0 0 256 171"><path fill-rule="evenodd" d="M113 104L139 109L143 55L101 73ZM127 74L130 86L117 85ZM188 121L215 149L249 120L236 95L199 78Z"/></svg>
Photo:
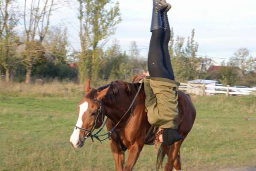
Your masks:
<svg viewBox="0 0 256 171"><path fill-rule="evenodd" d="M213 90L208 90L211 88ZM214 94L226 94L226 96L232 95L256 95L256 88L237 88L237 87L227 87L214 86L207 84L191 84L191 83L181 83L179 90L186 91L187 93L192 93L196 95L206 96Z"/></svg>

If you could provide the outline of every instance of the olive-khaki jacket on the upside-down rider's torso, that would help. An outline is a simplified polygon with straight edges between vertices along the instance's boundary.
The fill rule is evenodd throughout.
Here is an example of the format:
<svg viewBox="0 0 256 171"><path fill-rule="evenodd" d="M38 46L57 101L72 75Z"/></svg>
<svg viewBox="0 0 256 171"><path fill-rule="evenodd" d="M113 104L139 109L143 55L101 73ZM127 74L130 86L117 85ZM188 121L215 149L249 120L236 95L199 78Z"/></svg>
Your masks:
<svg viewBox="0 0 256 171"><path fill-rule="evenodd" d="M166 78L145 78L145 106L151 125L178 129L175 122L178 115L178 86L178 82Z"/></svg>

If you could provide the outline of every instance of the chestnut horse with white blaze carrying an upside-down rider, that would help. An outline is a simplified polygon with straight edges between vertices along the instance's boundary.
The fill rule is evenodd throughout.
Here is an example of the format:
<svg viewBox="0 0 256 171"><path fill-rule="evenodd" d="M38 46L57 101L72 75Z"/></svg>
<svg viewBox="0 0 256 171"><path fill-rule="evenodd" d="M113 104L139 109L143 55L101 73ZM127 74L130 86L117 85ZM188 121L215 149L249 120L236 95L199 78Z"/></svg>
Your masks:
<svg viewBox="0 0 256 171"><path fill-rule="evenodd" d="M179 150L196 118L196 109L190 96L182 91L178 91L178 109L176 122L178 133L183 139L171 146L163 144L160 146L157 154L157 170L162 165L164 156L167 155L168 161L164 170L172 171L174 168L175 171L181 171ZM84 83L84 96L78 103L77 112L78 120L70 137L72 147L83 147L87 138L101 141L98 134L106 125L108 133L104 135L110 139L116 171L133 170L142 148L148 144L147 136L152 130L145 110L143 83L117 80L94 89L90 87L88 79ZM109 119L104 121L105 116ZM94 129L99 131L93 134ZM126 149L128 149L128 159L124 166Z"/></svg>

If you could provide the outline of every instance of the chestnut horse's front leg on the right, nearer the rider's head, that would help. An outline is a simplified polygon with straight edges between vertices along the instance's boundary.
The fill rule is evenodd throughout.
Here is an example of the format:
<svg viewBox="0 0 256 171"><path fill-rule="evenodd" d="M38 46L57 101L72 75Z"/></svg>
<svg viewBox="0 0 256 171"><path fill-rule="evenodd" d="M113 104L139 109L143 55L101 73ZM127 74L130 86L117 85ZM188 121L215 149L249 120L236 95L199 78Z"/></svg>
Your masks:
<svg viewBox="0 0 256 171"><path fill-rule="evenodd" d="M139 144L133 144L128 148L129 156L128 156L124 171L133 170L133 167L136 164L141 151L142 151L142 147Z"/></svg>

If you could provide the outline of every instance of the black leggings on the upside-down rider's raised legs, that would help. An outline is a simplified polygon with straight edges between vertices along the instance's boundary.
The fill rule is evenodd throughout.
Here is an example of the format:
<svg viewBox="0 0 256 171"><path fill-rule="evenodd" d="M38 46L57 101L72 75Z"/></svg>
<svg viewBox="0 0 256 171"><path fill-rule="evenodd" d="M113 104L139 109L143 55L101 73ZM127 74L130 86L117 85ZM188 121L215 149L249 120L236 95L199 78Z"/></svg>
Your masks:
<svg viewBox="0 0 256 171"><path fill-rule="evenodd" d="M157 29L152 31L149 54L148 72L151 77L175 80L169 54L170 31Z"/></svg>

